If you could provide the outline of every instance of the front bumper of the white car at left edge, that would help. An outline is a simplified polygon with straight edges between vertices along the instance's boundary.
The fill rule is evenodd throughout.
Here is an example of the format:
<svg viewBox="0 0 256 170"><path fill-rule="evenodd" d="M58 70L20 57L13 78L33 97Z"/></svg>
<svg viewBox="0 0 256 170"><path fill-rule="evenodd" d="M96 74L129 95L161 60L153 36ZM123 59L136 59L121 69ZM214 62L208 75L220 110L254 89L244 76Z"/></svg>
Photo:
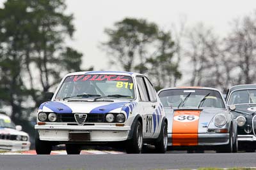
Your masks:
<svg viewBox="0 0 256 170"><path fill-rule="evenodd" d="M0 150L24 151L29 150L31 143L29 141L13 141L0 139Z"/></svg>

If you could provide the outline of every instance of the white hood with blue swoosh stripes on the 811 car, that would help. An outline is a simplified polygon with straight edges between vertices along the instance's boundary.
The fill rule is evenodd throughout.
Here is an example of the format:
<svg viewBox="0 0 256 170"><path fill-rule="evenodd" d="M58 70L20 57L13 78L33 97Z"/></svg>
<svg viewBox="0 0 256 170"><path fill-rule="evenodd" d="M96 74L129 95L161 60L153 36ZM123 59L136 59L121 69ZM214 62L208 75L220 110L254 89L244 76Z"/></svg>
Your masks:
<svg viewBox="0 0 256 170"><path fill-rule="evenodd" d="M42 103L38 111L54 113L120 113L129 114L137 105L134 101L49 101Z"/></svg>

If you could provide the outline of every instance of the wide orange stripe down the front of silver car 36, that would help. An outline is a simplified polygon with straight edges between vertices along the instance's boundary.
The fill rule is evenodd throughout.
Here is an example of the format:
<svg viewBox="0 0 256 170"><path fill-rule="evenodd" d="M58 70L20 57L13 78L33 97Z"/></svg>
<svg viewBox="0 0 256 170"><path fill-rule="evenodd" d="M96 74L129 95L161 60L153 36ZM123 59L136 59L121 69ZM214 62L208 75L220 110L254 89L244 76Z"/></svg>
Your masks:
<svg viewBox="0 0 256 170"><path fill-rule="evenodd" d="M198 145L198 122L195 121L180 122L174 117L181 115L195 115L200 116L201 110L176 110L173 115L172 125L172 145L173 146L195 146Z"/></svg>

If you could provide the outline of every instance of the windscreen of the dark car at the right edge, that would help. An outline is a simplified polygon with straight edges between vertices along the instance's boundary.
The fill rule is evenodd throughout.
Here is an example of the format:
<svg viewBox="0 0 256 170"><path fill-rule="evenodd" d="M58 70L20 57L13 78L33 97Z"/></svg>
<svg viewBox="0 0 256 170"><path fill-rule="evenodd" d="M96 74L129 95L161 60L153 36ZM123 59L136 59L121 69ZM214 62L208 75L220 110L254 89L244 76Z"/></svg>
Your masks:
<svg viewBox="0 0 256 170"><path fill-rule="evenodd" d="M256 104L256 90L237 90L229 97L228 105L232 104Z"/></svg>

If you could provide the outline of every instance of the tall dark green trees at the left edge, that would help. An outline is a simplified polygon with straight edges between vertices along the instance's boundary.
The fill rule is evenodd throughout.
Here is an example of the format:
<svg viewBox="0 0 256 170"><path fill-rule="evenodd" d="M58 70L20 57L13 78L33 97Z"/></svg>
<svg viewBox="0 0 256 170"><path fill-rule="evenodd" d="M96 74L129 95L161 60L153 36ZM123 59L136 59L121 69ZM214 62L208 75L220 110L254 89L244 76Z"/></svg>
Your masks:
<svg viewBox="0 0 256 170"><path fill-rule="evenodd" d="M81 70L83 54L65 45L74 33L65 9L64 0L8 0L0 9L0 103L15 123L28 121L63 74Z"/></svg>

